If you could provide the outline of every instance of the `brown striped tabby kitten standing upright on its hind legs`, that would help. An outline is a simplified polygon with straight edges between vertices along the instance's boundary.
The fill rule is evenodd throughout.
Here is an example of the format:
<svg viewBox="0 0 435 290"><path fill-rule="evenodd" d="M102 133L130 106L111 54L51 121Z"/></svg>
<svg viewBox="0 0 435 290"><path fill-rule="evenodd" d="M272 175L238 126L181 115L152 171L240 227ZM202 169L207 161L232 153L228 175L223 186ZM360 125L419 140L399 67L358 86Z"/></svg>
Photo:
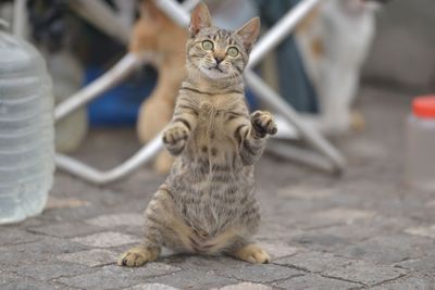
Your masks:
<svg viewBox="0 0 435 290"><path fill-rule="evenodd" d="M243 83L259 30L258 17L228 31L212 25L204 4L192 12L187 79L163 133L176 159L145 211L142 243L122 254L120 265L154 261L162 247L269 262L268 253L252 241L260 225L253 164L276 125L269 112L249 114Z"/></svg>

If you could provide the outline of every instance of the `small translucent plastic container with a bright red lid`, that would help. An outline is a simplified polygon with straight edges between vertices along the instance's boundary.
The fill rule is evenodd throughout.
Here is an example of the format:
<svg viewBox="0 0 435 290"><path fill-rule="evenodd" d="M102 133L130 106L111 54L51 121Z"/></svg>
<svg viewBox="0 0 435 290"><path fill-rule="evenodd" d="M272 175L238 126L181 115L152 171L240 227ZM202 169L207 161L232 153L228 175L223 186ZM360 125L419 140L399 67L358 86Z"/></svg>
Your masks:
<svg viewBox="0 0 435 290"><path fill-rule="evenodd" d="M407 124L407 181L435 192L435 96L415 98Z"/></svg>

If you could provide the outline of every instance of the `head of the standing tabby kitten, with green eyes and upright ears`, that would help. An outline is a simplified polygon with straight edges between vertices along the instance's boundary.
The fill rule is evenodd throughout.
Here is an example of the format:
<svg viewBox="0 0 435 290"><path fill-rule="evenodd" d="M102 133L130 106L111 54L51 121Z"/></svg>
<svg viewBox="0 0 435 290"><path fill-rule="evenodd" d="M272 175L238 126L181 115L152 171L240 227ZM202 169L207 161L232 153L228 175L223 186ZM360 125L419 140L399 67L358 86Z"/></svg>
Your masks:
<svg viewBox="0 0 435 290"><path fill-rule="evenodd" d="M192 12L189 26L187 71L210 79L241 76L259 30L257 17L236 31L213 27L207 7L199 4Z"/></svg>

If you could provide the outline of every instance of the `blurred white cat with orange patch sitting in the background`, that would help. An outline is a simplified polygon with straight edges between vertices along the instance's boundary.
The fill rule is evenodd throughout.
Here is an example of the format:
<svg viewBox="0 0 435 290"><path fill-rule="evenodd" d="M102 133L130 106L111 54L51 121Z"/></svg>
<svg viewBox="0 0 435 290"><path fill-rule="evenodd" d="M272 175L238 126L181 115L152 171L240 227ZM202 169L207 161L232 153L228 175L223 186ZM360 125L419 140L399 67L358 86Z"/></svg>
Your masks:
<svg viewBox="0 0 435 290"><path fill-rule="evenodd" d="M374 36L378 7L371 0L325 0L296 33L320 105L320 115L307 121L325 134L363 126L363 119L351 113L351 105Z"/></svg>

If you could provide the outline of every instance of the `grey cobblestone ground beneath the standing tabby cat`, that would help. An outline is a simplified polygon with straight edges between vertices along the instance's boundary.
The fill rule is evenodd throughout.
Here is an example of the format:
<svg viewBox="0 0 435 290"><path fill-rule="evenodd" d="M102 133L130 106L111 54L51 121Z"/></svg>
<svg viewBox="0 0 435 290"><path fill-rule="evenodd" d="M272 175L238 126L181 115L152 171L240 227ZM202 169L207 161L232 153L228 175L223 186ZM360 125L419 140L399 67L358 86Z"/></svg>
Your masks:
<svg viewBox="0 0 435 290"><path fill-rule="evenodd" d="M335 140L341 177L265 155L258 166L259 241L273 261L164 255L115 265L141 237L141 211L164 177L141 169L95 187L58 173L44 214L0 227L0 289L435 289L435 192L402 180L409 99L361 91L366 129ZM92 133L78 156L109 168L137 148L133 130Z"/></svg>

